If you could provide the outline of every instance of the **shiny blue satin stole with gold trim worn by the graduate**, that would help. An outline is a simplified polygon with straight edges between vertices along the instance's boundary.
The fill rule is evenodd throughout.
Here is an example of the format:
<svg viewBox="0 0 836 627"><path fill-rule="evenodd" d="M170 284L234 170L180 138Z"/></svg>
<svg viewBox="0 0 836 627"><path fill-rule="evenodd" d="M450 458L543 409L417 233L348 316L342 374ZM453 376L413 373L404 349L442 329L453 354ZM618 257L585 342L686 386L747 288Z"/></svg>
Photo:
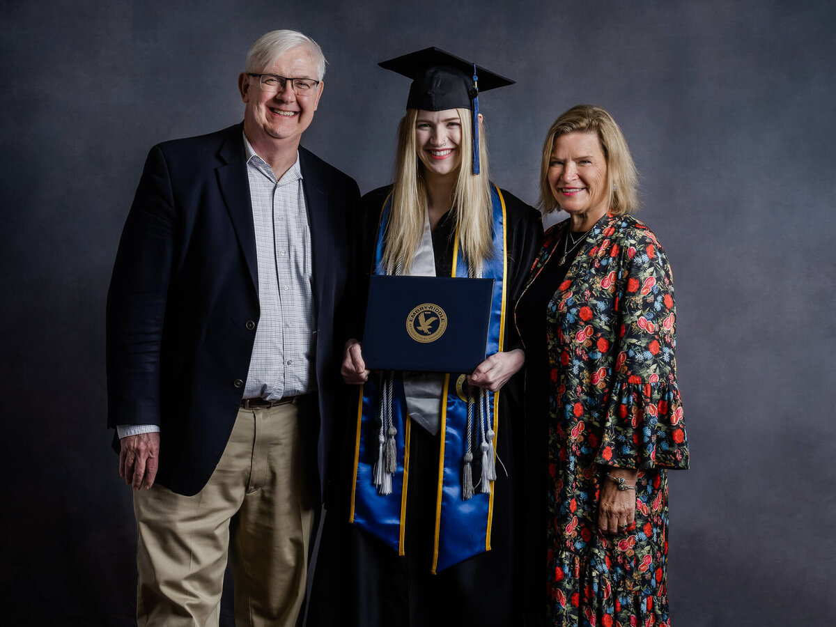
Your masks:
<svg viewBox="0 0 836 627"><path fill-rule="evenodd" d="M487 354L502 350L505 330L507 246L505 200L491 185L493 246L496 254L482 265L482 277L493 278ZM384 203L372 272L385 274L381 259L389 222L391 196ZM466 260L458 254L458 232L453 243L455 278L467 277ZM436 573L473 555L491 550L493 481L496 477L493 439L497 433L499 392L484 390L476 401L463 390L466 375L444 375L441 407L441 451L438 460L436 529L431 572ZM360 387L354 442L354 484L349 522L359 525L404 555L406 494L410 472L410 429L400 373L372 375ZM418 427L419 429L422 427ZM375 446L379 445L379 446ZM385 475L383 458L390 449ZM388 452L388 451L387 451ZM482 455L482 477L472 477L473 455ZM474 479L477 480L472 487Z"/></svg>

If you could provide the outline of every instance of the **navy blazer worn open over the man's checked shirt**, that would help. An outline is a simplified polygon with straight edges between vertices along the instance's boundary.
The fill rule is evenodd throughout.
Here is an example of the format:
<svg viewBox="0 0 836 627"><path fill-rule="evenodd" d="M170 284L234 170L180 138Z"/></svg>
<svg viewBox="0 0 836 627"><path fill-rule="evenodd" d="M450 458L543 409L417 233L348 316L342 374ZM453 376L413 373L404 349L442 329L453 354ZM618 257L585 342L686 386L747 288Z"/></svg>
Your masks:
<svg viewBox="0 0 836 627"><path fill-rule="evenodd" d="M317 450L324 487L344 421L349 234L356 182L299 148L314 262ZM157 482L193 495L221 459L260 317L242 125L155 145L125 222L107 302L108 425L161 429ZM312 425L313 427L314 425ZM118 442L115 441L118 450Z"/></svg>

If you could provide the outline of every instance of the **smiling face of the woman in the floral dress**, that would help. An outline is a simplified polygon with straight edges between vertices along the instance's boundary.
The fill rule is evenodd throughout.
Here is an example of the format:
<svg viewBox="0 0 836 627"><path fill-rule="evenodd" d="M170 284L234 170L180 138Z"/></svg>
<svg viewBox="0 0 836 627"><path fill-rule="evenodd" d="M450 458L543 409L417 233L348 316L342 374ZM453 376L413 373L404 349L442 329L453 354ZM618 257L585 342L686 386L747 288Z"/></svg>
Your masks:
<svg viewBox="0 0 836 627"><path fill-rule="evenodd" d="M609 209L607 160L598 135L558 135L548 164L548 186L573 227L591 228Z"/></svg>

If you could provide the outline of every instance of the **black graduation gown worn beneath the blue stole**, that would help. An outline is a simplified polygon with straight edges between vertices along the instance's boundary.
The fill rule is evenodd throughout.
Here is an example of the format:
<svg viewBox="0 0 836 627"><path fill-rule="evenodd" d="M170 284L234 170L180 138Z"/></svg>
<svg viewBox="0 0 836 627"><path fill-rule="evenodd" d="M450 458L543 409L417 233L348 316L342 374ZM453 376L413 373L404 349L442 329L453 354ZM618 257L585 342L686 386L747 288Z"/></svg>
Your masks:
<svg viewBox="0 0 836 627"><path fill-rule="evenodd" d="M363 196L356 234L359 246L354 268L358 282L355 294L358 312L354 328L362 329L370 268L374 257L380 212L391 187L381 187ZM537 254L543 227L540 215L516 196L502 191L506 204L506 237L510 286L507 303L505 350L521 348L513 320L513 305L522 292ZM450 276L454 225L443 217L433 234L438 276ZM359 338L358 330L357 337ZM346 438L344 477L338 477L341 497L329 506L315 565L314 587L308 608L308 625L462 625L497 627L521 624L523 598L522 521L514 507L521 482L523 456L523 373L517 373L502 388L497 430L497 481L494 483L492 550L480 553L440 573L431 574L435 528L436 483L440 436L415 426L410 437L410 487L405 524L405 555L370 533L348 523L353 477L354 440ZM356 405L346 420L354 425ZM351 429L348 430L349 432ZM517 434L517 431L519 432ZM502 470L504 465L507 475Z"/></svg>

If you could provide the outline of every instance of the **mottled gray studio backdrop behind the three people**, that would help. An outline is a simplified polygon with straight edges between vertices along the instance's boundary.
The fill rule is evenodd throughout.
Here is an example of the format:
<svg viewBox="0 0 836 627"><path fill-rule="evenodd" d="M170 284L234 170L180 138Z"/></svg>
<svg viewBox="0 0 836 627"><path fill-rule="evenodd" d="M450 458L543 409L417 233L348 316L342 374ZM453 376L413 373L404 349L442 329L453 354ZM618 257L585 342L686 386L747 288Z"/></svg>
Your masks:
<svg viewBox="0 0 836 627"><path fill-rule="evenodd" d="M693 468L670 487L673 624L831 622L832 2L8 0L0 15L5 616L130 624L135 528L104 428L120 229L150 145L240 120L250 43L297 28L329 59L304 144L363 191L390 179L407 90L375 63L414 48L517 79L481 104L493 177L530 202L554 118L613 113L680 314Z"/></svg>

